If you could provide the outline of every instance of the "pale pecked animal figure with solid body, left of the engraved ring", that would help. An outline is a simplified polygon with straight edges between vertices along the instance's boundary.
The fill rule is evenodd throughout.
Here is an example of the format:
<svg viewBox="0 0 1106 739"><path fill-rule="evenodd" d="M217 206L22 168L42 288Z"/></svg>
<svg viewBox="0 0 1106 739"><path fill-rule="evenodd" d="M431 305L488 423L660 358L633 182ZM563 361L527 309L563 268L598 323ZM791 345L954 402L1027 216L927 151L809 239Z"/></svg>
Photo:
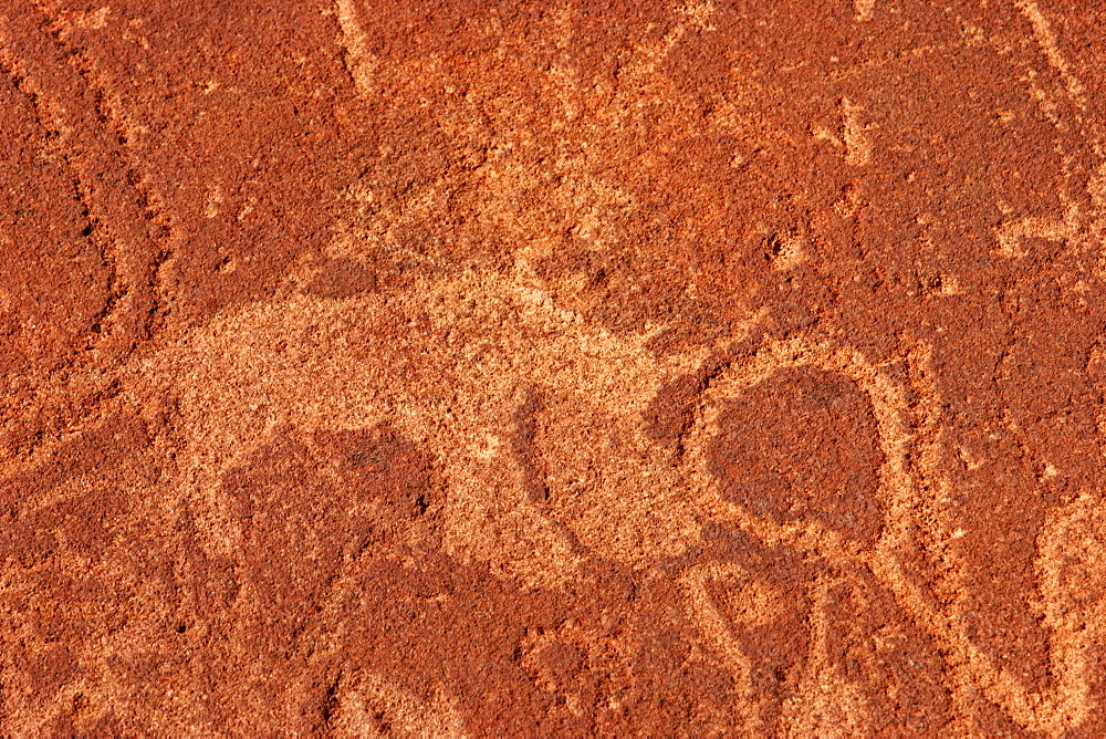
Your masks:
<svg viewBox="0 0 1106 739"><path fill-rule="evenodd" d="M251 305L137 364L132 392L179 395L182 492L207 511L226 508L216 493L223 471L281 428L388 421L438 451L450 552L556 585L577 555L526 500L511 454L524 385L550 388L543 413L554 426L539 444L562 501L555 516L582 543L645 566L698 537L677 471L638 427L661 384L695 371L707 348L657 357L645 350L654 333L615 336L524 274L470 270L406 295ZM223 532L212 545L231 551L233 528L209 523Z"/></svg>

